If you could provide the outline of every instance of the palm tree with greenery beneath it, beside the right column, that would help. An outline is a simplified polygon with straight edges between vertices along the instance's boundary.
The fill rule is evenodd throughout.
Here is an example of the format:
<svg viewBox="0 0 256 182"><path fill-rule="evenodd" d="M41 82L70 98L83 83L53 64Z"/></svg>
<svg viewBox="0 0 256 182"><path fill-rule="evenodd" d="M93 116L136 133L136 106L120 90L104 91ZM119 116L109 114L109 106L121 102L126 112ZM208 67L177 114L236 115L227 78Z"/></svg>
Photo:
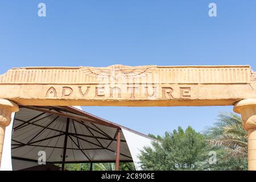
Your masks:
<svg viewBox="0 0 256 182"><path fill-rule="evenodd" d="M207 127L204 133L211 150L217 152L217 164L210 165L210 170L247 169L247 132L237 114L218 115L218 121L213 127Z"/></svg>

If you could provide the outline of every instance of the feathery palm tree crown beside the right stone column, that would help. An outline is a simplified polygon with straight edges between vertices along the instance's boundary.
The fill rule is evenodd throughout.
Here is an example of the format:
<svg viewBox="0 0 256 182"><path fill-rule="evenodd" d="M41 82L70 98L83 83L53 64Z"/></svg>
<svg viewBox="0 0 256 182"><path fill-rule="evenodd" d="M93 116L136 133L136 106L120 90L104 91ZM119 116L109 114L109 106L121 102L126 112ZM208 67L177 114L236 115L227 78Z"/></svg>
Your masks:
<svg viewBox="0 0 256 182"><path fill-rule="evenodd" d="M228 151L227 157L247 156L247 132L242 128L241 117L235 113L224 113L218 117L215 127L210 129L210 144L224 147Z"/></svg>

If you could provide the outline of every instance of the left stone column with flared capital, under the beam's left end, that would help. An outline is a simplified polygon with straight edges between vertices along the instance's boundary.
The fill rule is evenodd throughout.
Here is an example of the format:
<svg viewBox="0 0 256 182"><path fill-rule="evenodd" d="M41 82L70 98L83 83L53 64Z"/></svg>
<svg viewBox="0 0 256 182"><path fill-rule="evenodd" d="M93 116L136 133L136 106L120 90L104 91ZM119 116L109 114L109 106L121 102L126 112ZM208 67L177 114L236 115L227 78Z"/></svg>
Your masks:
<svg viewBox="0 0 256 182"><path fill-rule="evenodd" d="M19 106L9 100L0 99L0 166L2 161L5 128L11 122L11 113L19 111Z"/></svg>

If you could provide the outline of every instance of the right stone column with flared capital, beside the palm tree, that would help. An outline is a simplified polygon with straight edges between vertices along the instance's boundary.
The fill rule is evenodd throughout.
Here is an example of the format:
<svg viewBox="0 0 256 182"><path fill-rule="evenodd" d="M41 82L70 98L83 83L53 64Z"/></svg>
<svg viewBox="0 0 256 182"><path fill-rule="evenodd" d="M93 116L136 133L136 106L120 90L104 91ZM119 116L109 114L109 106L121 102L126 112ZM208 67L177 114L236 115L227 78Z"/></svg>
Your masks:
<svg viewBox="0 0 256 182"><path fill-rule="evenodd" d="M248 170L256 171L256 99L237 102L234 111L241 114L242 127L248 133Z"/></svg>

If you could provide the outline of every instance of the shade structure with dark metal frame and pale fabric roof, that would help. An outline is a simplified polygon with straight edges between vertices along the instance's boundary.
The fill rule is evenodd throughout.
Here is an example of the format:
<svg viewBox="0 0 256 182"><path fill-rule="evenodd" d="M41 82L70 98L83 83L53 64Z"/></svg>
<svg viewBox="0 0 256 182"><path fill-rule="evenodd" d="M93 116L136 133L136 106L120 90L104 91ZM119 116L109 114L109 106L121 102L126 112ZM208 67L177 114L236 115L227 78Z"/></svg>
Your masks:
<svg viewBox="0 0 256 182"><path fill-rule="evenodd" d="M44 151L47 163L115 162L118 130L121 162L134 158L122 130L154 140L72 106L20 106L14 117L11 156L38 162L39 151Z"/></svg>

